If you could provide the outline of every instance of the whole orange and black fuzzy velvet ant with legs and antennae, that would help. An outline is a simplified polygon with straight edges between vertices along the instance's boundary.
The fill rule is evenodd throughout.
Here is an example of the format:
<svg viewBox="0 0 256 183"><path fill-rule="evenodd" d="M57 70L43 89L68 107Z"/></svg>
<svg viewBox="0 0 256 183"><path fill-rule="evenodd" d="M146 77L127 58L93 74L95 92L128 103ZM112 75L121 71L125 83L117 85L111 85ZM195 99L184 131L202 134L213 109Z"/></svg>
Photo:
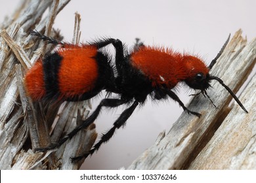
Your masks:
<svg viewBox="0 0 256 183"><path fill-rule="evenodd" d="M92 155L102 143L110 140L116 129L125 125L135 108L142 105L148 95L152 100L164 100L170 97L188 113L200 117L200 113L186 108L172 91L179 82L184 82L190 88L200 90L200 93L207 95L206 90L211 86L211 80L217 80L247 112L238 97L224 84L223 80L209 74L228 44L230 35L219 54L207 67L202 59L188 54L180 54L169 48L156 48L138 43L137 47L129 53L119 39L105 39L78 46L45 37L37 31L32 31L32 34L49 43L62 45L60 50L49 54L43 61L35 63L26 74L25 84L32 99L35 101L39 99L79 101L90 99L101 90L116 93L118 96L117 98L102 99L91 116L64 139L37 150L50 150L71 139L79 130L95 121L102 107L114 108L126 104L128 107L120 114L113 127L102 135L100 141L89 152L72 159L81 159ZM108 44L112 44L116 48L115 67L111 66L108 54L99 50ZM209 98L208 95L207 97Z"/></svg>

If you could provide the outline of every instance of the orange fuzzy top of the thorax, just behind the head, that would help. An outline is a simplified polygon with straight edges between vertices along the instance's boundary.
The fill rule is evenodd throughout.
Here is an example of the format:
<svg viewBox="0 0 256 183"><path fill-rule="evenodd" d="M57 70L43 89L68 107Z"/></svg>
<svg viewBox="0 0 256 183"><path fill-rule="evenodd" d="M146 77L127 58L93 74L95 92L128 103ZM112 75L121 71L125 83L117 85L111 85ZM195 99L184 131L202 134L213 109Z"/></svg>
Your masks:
<svg viewBox="0 0 256 183"><path fill-rule="evenodd" d="M182 56L172 50L144 47L131 55L133 67L139 69L152 82L152 86L173 88L186 77Z"/></svg>

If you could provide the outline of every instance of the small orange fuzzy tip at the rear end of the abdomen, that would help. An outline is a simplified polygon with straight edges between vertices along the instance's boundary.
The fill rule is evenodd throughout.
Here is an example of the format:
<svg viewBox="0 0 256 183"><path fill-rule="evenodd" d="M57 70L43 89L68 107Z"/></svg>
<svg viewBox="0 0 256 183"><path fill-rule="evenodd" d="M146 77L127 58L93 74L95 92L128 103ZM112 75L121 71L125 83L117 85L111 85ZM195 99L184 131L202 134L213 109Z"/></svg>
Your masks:
<svg viewBox="0 0 256 183"><path fill-rule="evenodd" d="M43 80L43 63L41 60L37 61L35 65L33 65L32 69L26 73L24 82L26 92L30 95L33 101L44 97L46 91Z"/></svg>

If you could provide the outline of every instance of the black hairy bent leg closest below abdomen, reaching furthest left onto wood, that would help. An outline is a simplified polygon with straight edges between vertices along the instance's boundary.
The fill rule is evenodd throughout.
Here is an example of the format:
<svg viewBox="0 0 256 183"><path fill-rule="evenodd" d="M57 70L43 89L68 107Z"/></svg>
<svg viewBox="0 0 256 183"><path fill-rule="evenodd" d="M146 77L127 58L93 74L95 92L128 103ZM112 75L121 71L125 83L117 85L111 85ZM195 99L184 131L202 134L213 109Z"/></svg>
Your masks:
<svg viewBox="0 0 256 183"><path fill-rule="evenodd" d="M121 99L103 99L100 102L100 104L98 105L98 107L95 109L93 114L91 114L91 116L89 116L89 118L87 118L83 122L83 124L75 127L75 129L73 129L72 132L68 133L68 135L66 135L66 137L64 137L63 139L60 139L60 141L56 142L55 144L51 144L51 146L47 146L44 148L35 148L35 151L45 152L47 150L58 148L64 142L68 141L68 139L72 139L72 137L74 137L81 129L85 129L89 125L93 124L93 122L98 117L98 114L100 114L100 110L102 107L117 107L119 105L122 105L123 103L125 103L125 101L122 101Z"/></svg>

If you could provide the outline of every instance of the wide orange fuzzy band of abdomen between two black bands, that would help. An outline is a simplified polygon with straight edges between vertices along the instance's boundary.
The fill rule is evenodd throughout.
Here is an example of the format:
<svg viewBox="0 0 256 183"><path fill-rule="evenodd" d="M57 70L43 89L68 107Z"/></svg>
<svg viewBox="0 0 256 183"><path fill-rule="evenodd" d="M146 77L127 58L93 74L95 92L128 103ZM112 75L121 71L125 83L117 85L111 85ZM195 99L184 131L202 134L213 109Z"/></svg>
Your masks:
<svg viewBox="0 0 256 183"><path fill-rule="evenodd" d="M58 54L62 56L58 72L60 97L74 97L93 90L98 78L96 48L73 48Z"/></svg>

